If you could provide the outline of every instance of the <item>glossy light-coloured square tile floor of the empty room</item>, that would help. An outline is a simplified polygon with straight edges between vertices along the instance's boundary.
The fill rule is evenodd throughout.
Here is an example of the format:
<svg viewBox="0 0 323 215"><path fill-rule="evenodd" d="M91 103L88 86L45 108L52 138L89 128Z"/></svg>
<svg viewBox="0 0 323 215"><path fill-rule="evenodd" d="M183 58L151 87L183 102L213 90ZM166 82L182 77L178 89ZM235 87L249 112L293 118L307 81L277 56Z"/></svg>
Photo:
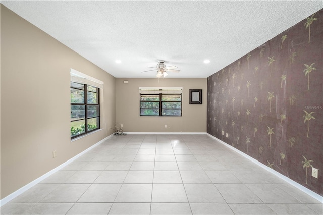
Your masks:
<svg viewBox="0 0 323 215"><path fill-rule="evenodd" d="M323 214L323 204L207 135L113 136L1 214Z"/></svg>

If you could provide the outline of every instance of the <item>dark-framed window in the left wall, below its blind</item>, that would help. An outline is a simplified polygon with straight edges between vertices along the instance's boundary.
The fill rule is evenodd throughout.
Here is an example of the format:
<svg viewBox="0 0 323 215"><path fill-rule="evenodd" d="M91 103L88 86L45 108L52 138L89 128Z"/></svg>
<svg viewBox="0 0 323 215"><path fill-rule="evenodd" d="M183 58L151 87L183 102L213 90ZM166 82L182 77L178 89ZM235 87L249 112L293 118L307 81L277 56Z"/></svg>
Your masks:
<svg viewBox="0 0 323 215"><path fill-rule="evenodd" d="M100 128L100 89L71 82L71 139Z"/></svg>

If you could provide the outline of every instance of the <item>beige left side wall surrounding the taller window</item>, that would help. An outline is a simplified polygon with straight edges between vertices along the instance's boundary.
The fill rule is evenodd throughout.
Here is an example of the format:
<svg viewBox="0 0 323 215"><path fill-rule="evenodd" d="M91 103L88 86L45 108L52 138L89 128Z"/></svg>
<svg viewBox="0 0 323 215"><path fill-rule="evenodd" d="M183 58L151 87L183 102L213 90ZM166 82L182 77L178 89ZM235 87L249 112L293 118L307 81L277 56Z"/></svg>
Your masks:
<svg viewBox="0 0 323 215"><path fill-rule="evenodd" d="M104 82L103 130L73 142L70 68ZM1 5L1 198L112 134L115 107L113 76Z"/></svg>

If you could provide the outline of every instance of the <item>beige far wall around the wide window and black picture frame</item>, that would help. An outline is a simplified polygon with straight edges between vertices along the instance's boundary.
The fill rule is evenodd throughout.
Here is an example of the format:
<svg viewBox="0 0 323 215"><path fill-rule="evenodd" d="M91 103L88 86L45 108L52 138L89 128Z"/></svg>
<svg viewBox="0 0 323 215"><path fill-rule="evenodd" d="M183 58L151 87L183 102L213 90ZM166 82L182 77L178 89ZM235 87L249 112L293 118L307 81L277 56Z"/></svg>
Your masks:
<svg viewBox="0 0 323 215"><path fill-rule="evenodd" d="M117 78L116 122L125 132L206 132L206 86L206 78ZM183 87L182 117L140 117L139 87ZM189 89L203 90L201 105L189 104Z"/></svg>

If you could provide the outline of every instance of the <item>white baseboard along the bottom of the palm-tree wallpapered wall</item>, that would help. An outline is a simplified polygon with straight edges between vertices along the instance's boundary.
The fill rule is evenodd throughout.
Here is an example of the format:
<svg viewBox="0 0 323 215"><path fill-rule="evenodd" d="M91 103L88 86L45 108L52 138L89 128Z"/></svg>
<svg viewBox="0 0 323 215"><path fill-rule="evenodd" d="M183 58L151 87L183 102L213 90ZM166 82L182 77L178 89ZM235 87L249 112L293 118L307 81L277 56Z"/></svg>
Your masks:
<svg viewBox="0 0 323 215"><path fill-rule="evenodd" d="M299 190L303 191L304 193L310 195L311 197L315 198L316 200L320 201L323 203L323 196L318 195L317 193L311 191L310 189L304 187L303 185L291 180L290 178L284 176L283 174L273 170L270 167L267 167L266 165L262 164L261 162L258 162L258 160L256 160L253 157L250 157L248 154L243 153L242 151L236 149L235 147L229 145L228 143L225 143L224 141L210 135L209 133L207 133L207 135L217 141L219 141L220 143L224 144L225 146L227 146L228 148L234 150L235 152L241 154L242 156L248 158L251 162L255 163L256 165L258 165L259 167L262 167L263 169L267 170L268 172L273 173L274 175L278 176L279 178L283 179L284 181L286 181L287 183L289 183L290 185L293 185L294 187L298 188Z"/></svg>

